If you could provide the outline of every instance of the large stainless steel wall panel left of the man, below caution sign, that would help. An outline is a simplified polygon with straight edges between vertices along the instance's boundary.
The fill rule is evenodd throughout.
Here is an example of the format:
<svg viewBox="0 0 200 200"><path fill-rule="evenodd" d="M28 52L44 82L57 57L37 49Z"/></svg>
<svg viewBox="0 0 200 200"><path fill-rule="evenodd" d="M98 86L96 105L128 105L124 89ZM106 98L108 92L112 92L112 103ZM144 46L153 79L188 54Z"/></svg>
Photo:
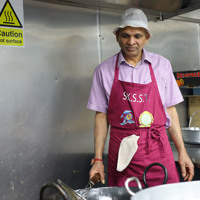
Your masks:
<svg viewBox="0 0 200 200"><path fill-rule="evenodd" d="M78 187L93 152L96 11L27 2L25 48L0 48L1 200L39 199L56 178Z"/></svg>

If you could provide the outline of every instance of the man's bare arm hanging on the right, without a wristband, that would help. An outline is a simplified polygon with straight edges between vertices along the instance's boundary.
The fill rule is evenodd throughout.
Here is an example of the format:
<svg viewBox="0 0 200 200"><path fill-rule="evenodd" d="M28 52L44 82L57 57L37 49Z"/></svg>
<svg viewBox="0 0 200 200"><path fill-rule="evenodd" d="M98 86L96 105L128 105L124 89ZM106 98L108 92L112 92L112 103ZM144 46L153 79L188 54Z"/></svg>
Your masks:
<svg viewBox="0 0 200 200"><path fill-rule="evenodd" d="M194 176L194 165L185 149L176 108L172 106L167 108L166 111L171 118L171 126L169 127L168 132L179 154L179 165L181 167L182 176L184 177L184 180L191 181Z"/></svg>

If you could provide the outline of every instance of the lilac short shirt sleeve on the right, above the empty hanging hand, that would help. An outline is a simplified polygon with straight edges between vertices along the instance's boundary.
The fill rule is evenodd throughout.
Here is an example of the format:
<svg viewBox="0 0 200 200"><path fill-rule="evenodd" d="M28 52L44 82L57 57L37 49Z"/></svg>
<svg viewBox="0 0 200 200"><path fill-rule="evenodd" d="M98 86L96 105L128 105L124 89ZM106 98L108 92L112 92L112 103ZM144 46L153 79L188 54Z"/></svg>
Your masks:
<svg viewBox="0 0 200 200"><path fill-rule="evenodd" d="M166 74L167 78L165 86L165 93L166 93L165 105L166 107L171 107L182 102L183 96L174 77L170 62L168 62L168 69L169 73Z"/></svg>

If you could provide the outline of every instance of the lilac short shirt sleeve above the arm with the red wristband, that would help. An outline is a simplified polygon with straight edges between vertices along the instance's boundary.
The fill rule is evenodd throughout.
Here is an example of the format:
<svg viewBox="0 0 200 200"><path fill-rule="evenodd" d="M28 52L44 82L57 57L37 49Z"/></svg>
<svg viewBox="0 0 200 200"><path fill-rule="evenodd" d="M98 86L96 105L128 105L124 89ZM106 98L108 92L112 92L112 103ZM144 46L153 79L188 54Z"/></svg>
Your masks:
<svg viewBox="0 0 200 200"><path fill-rule="evenodd" d="M101 68L98 66L94 72L87 108L90 110L107 113L107 105L108 100L103 84Z"/></svg>

